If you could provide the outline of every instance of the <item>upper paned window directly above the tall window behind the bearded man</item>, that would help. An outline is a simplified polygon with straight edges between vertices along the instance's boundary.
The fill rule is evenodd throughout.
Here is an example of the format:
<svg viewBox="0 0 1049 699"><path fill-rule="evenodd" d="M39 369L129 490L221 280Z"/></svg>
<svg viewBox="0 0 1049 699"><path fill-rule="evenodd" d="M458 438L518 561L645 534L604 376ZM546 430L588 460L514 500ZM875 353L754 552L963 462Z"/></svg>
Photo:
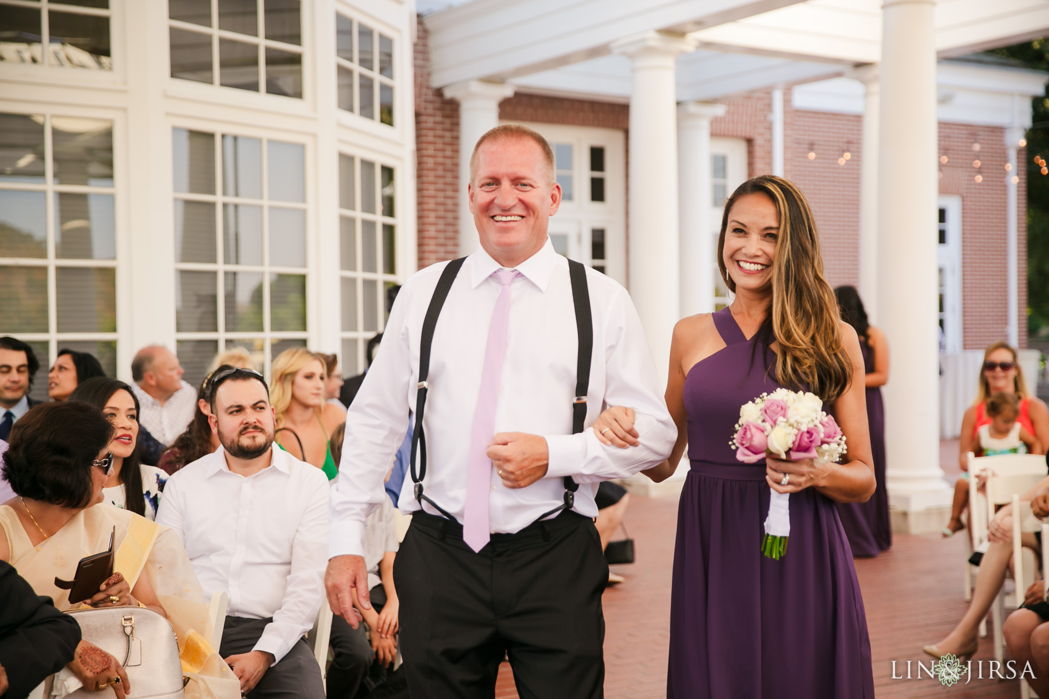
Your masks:
<svg viewBox="0 0 1049 699"><path fill-rule="evenodd" d="M300 0L168 0L171 77L302 97Z"/></svg>

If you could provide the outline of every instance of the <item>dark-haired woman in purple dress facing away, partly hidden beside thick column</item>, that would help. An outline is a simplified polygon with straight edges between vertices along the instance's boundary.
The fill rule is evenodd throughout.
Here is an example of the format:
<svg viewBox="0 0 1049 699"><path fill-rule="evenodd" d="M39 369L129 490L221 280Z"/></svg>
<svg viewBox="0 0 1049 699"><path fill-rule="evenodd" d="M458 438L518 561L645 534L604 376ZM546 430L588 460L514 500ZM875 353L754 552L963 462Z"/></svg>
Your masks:
<svg viewBox="0 0 1049 699"><path fill-rule="evenodd" d="M878 484L866 502L839 502L838 517L853 555L870 558L893 545L889 493L885 490L885 406L881 401L881 387L889 381L889 343L885 333L868 322L866 310L855 287L839 286L834 289L834 296L838 299L841 320L856 330L863 352L866 421L871 428L874 479Z"/></svg>

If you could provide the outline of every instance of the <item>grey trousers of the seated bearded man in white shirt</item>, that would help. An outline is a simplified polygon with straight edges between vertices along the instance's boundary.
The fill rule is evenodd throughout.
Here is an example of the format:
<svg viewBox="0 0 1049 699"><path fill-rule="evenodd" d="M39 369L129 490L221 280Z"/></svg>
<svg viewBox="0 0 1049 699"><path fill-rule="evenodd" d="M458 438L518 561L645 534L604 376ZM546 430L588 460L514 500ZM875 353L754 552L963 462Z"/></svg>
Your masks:
<svg viewBox="0 0 1049 699"><path fill-rule="evenodd" d="M219 654L223 658L241 653L251 653L262 636L267 619L248 619L242 616L227 616L222 629ZM265 671L262 679L248 694L249 699L324 699L324 680L317 658L300 638L280 662Z"/></svg>

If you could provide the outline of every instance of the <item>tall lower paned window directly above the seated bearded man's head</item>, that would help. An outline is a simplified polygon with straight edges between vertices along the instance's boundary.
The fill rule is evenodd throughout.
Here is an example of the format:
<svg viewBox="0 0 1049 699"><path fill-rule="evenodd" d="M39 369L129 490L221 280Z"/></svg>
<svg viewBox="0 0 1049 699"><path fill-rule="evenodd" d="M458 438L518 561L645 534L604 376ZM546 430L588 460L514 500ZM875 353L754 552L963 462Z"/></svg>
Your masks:
<svg viewBox="0 0 1049 699"><path fill-rule="evenodd" d="M306 344L304 148L173 130L175 337L186 379L219 348L245 347L269 375Z"/></svg>

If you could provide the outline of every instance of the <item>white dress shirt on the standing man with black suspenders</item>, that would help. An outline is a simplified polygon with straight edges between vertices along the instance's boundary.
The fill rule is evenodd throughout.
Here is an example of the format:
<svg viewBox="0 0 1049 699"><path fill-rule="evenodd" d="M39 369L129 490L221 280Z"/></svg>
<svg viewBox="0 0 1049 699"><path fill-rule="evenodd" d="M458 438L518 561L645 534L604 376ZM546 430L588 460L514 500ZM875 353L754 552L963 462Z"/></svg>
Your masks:
<svg viewBox="0 0 1049 699"><path fill-rule="evenodd" d="M423 318L446 264L431 265L405 283L378 356L349 408L339 482L331 489L330 556L363 554L365 518L387 497L383 478L415 407ZM427 497L459 522L488 328L500 288L492 274L499 268L484 249L467 258L433 335L424 418L428 451L424 485ZM505 487L493 469L490 528L504 533L519 531L561 504L563 476L580 483L574 509L596 517L597 483L658 464L670 454L678 435L629 296L594 269L586 270L594 352L585 423L590 425L604 405L633 408L641 444L620 450L604 446L593 430L572 434L579 343L568 260L554 252L548 239L516 269L521 277L510 286L495 432L545 437L550 465L544 478L515 489ZM406 514L419 509L410 478L405 475L399 502ZM428 504L425 509L437 514Z"/></svg>

